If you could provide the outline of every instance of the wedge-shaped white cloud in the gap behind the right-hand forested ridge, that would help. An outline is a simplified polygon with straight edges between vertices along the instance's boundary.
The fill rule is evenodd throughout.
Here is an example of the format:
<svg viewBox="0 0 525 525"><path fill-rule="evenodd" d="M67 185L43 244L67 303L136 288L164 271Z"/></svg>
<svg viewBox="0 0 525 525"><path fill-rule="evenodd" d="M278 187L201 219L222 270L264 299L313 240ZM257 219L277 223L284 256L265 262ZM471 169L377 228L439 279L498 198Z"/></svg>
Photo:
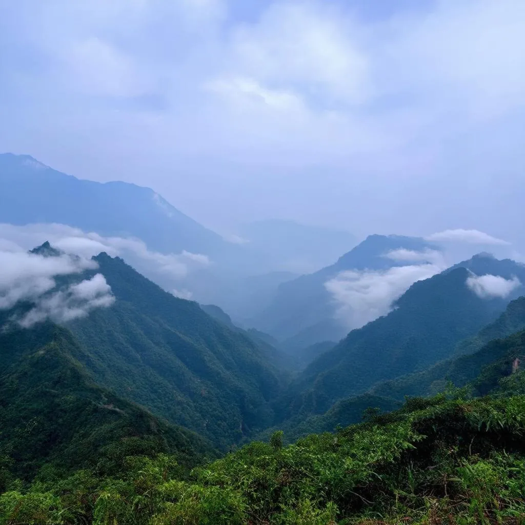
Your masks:
<svg viewBox="0 0 525 525"><path fill-rule="evenodd" d="M343 271L325 283L337 304L337 317L353 330L386 315L392 304L414 282L428 279L443 268L432 264L409 265L386 271Z"/></svg>

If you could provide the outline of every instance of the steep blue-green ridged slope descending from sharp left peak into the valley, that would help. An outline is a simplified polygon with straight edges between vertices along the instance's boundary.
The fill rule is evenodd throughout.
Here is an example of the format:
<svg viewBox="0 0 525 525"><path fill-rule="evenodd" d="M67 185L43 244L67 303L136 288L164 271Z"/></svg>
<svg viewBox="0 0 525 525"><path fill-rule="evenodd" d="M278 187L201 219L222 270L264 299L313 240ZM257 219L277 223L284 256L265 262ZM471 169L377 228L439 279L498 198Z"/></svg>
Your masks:
<svg viewBox="0 0 525 525"><path fill-rule="evenodd" d="M268 346L178 299L120 258L98 271L116 297L109 309L68 324L101 385L227 448L271 424L281 374Z"/></svg>

